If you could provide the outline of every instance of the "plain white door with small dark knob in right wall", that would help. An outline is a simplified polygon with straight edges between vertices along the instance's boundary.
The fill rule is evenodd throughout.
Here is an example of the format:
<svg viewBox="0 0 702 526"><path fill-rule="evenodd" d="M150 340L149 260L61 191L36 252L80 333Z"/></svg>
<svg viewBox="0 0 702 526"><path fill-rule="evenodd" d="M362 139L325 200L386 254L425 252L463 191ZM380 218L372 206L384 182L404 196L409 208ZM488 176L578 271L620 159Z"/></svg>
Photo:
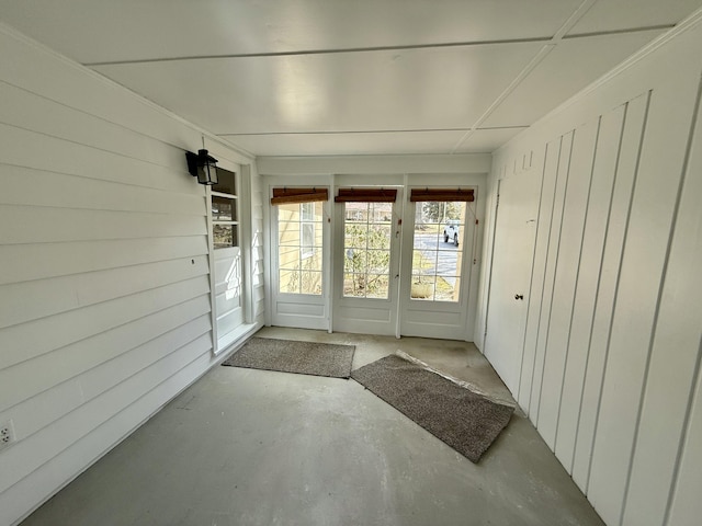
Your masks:
<svg viewBox="0 0 702 526"><path fill-rule="evenodd" d="M485 355L517 393L541 176L530 170L500 181Z"/></svg>

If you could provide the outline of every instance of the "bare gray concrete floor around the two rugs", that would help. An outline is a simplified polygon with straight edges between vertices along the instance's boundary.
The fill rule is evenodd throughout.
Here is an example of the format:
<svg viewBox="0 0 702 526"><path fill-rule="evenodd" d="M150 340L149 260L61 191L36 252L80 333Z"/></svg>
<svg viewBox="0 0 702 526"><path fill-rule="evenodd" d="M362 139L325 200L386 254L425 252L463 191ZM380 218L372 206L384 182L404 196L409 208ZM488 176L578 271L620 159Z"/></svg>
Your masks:
<svg viewBox="0 0 702 526"><path fill-rule="evenodd" d="M263 329L401 350L509 398L469 343ZM523 415L472 464L353 380L215 367L23 526L602 525Z"/></svg>

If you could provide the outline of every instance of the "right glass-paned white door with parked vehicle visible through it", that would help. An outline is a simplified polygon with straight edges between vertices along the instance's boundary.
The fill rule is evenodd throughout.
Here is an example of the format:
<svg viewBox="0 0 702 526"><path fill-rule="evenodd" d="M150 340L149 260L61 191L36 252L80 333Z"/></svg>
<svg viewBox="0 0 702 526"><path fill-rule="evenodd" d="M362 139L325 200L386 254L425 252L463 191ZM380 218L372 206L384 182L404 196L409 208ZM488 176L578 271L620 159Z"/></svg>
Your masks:
<svg viewBox="0 0 702 526"><path fill-rule="evenodd" d="M475 204L417 202L405 214L400 334L465 340Z"/></svg>

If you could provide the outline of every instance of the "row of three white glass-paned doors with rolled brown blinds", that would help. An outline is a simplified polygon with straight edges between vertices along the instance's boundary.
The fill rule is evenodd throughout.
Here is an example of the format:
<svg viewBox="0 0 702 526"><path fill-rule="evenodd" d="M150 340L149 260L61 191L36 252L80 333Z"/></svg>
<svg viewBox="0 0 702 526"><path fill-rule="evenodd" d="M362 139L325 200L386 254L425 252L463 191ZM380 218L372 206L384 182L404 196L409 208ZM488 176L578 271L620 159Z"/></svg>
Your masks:
<svg viewBox="0 0 702 526"><path fill-rule="evenodd" d="M469 338L472 190L272 190L272 324Z"/></svg>

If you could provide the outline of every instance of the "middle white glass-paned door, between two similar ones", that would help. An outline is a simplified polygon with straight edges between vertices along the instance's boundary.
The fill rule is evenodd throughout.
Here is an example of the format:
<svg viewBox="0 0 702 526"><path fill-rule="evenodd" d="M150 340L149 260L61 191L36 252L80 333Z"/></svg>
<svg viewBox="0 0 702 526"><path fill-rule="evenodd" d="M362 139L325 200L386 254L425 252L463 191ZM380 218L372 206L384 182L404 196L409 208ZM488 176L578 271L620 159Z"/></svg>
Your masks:
<svg viewBox="0 0 702 526"><path fill-rule="evenodd" d="M401 210L337 203L333 330L397 335Z"/></svg>

